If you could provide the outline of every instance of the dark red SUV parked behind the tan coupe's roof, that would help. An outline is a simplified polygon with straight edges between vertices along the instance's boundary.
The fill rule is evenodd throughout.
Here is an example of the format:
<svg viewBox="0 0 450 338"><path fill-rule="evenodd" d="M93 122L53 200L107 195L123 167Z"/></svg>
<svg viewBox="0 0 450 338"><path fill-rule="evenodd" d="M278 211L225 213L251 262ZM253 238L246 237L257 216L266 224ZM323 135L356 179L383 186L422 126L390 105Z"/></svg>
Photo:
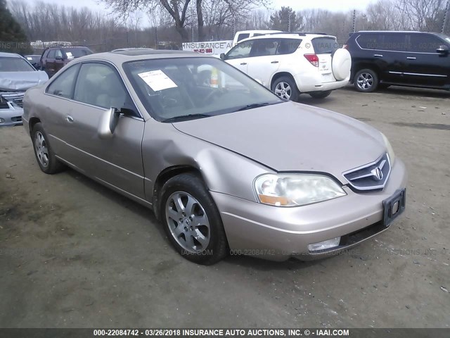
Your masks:
<svg viewBox="0 0 450 338"><path fill-rule="evenodd" d="M49 77L67 65L74 58L93 54L91 49L82 46L50 47L41 56L41 70L45 70Z"/></svg>

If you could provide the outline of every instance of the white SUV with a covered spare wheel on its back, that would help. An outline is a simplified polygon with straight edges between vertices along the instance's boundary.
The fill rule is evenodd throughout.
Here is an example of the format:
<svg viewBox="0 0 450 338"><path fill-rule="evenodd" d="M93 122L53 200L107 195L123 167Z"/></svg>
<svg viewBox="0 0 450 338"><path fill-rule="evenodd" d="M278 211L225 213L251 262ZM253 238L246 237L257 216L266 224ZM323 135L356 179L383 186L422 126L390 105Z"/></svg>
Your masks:
<svg viewBox="0 0 450 338"><path fill-rule="evenodd" d="M221 58L259 80L283 99L307 93L323 99L350 79L352 57L336 37L309 33L271 33L239 42Z"/></svg>

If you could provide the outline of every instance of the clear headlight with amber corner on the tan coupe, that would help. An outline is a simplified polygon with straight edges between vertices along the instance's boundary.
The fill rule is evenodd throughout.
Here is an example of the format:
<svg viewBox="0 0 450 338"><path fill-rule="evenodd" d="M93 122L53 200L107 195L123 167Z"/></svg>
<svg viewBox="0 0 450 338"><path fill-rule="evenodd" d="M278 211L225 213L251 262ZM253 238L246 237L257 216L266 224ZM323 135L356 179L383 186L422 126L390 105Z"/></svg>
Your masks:
<svg viewBox="0 0 450 338"><path fill-rule="evenodd" d="M271 206L304 206L345 196L330 177L314 174L266 174L257 177L259 201Z"/></svg>

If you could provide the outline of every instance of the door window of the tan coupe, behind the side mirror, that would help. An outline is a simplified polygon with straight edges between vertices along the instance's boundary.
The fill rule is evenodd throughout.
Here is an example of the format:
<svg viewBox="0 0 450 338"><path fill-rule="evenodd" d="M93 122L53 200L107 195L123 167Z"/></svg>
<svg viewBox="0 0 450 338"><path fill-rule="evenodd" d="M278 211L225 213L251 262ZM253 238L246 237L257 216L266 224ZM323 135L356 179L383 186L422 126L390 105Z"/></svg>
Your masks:
<svg viewBox="0 0 450 338"><path fill-rule="evenodd" d="M103 63L82 64L73 99L103 108L133 109L122 79Z"/></svg>

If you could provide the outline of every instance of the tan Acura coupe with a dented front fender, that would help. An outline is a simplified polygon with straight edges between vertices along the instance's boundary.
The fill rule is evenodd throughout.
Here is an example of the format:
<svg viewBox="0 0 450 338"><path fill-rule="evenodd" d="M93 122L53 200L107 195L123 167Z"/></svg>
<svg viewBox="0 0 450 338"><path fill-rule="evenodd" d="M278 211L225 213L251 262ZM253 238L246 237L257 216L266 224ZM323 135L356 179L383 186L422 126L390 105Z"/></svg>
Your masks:
<svg viewBox="0 0 450 338"><path fill-rule="evenodd" d="M205 84L212 68L232 85ZM24 100L37 163L69 165L153 208L188 260L328 256L404 211L406 172L387 138L285 101L213 56L117 51L70 63ZM101 211L99 211L101 212Z"/></svg>

